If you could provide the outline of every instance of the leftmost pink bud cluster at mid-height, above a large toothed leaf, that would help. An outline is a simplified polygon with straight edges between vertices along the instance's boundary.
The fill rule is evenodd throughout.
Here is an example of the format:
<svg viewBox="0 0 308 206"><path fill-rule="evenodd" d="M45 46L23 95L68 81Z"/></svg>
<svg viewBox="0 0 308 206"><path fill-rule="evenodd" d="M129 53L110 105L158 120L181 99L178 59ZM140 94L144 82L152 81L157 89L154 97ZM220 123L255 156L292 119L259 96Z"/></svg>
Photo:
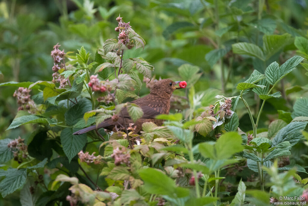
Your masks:
<svg viewBox="0 0 308 206"><path fill-rule="evenodd" d="M15 90L13 97L17 98L17 103L19 104L19 110L30 110L31 107L34 107L34 101L30 99L30 92L31 90L24 87L19 87L18 90Z"/></svg>

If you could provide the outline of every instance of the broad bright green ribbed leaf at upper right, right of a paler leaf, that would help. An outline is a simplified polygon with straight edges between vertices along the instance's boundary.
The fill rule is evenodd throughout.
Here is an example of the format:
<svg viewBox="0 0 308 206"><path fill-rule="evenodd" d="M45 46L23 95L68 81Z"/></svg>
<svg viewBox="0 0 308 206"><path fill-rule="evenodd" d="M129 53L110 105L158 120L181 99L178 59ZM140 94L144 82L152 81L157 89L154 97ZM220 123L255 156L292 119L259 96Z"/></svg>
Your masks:
<svg viewBox="0 0 308 206"><path fill-rule="evenodd" d="M262 39L263 51L266 55L265 60L282 50L286 45L292 44L294 40L287 33L283 35L264 35Z"/></svg>

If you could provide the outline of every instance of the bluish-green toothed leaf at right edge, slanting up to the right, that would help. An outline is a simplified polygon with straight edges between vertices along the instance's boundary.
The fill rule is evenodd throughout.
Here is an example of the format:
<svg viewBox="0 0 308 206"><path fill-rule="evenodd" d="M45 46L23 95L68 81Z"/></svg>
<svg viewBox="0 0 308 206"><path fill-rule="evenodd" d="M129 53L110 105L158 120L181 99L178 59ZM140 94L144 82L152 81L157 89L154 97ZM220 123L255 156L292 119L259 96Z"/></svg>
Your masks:
<svg viewBox="0 0 308 206"><path fill-rule="evenodd" d="M295 145L302 138L301 130L306 128L307 123L306 121L291 122L277 133L273 139L273 145L278 145L283 141L289 141L291 145Z"/></svg>

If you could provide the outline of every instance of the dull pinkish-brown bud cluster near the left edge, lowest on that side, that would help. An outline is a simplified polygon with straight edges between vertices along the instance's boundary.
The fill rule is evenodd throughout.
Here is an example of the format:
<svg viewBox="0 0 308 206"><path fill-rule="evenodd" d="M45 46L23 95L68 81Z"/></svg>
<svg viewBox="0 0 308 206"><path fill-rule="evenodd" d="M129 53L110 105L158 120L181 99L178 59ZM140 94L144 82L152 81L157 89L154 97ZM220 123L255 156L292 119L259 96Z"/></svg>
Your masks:
<svg viewBox="0 0 308 206"><path fill-rule="evenodd" d="M13 152L14 160L18 163L22 163L22 158L28 157L28 146L25 145L24 140L18 137L7 144L7 147Z"/></svg>

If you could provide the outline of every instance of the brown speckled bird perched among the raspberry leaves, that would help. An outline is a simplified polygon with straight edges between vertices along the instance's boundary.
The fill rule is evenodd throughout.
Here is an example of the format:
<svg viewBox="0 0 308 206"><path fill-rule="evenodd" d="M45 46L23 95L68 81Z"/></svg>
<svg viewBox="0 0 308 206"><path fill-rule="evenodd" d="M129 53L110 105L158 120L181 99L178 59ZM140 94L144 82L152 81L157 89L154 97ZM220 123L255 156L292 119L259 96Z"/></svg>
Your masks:
<svg viewBox="0 0 308 206"><path fill-rule="evenodd" d="M113 121L111 118L108 118L103 122L99 123L97 127L96 125L92 125L90 127L75 132L74 135L83 134L99 128L105 128L107 130L115 131L116 126L118 128L122 125L124 126L124 121L126 126L128 126L130 123L134 123L137 126L134 133L138 133L140 130L142 130L142 124L144 122L153 122L157 126L161 126L164 120L157 120L155 119L155 117L160 114L169 114L170 97L174 90L181 89L180 87L176 86L176 84L178 84L179 82L180 81L173 82L170 79L163 79L157 81L154 84L150 94L132 101L131 103L135 103L143 111L143 116L135 123L129 116L126 107L124 107L121 109L117 121Z"/></svg>

